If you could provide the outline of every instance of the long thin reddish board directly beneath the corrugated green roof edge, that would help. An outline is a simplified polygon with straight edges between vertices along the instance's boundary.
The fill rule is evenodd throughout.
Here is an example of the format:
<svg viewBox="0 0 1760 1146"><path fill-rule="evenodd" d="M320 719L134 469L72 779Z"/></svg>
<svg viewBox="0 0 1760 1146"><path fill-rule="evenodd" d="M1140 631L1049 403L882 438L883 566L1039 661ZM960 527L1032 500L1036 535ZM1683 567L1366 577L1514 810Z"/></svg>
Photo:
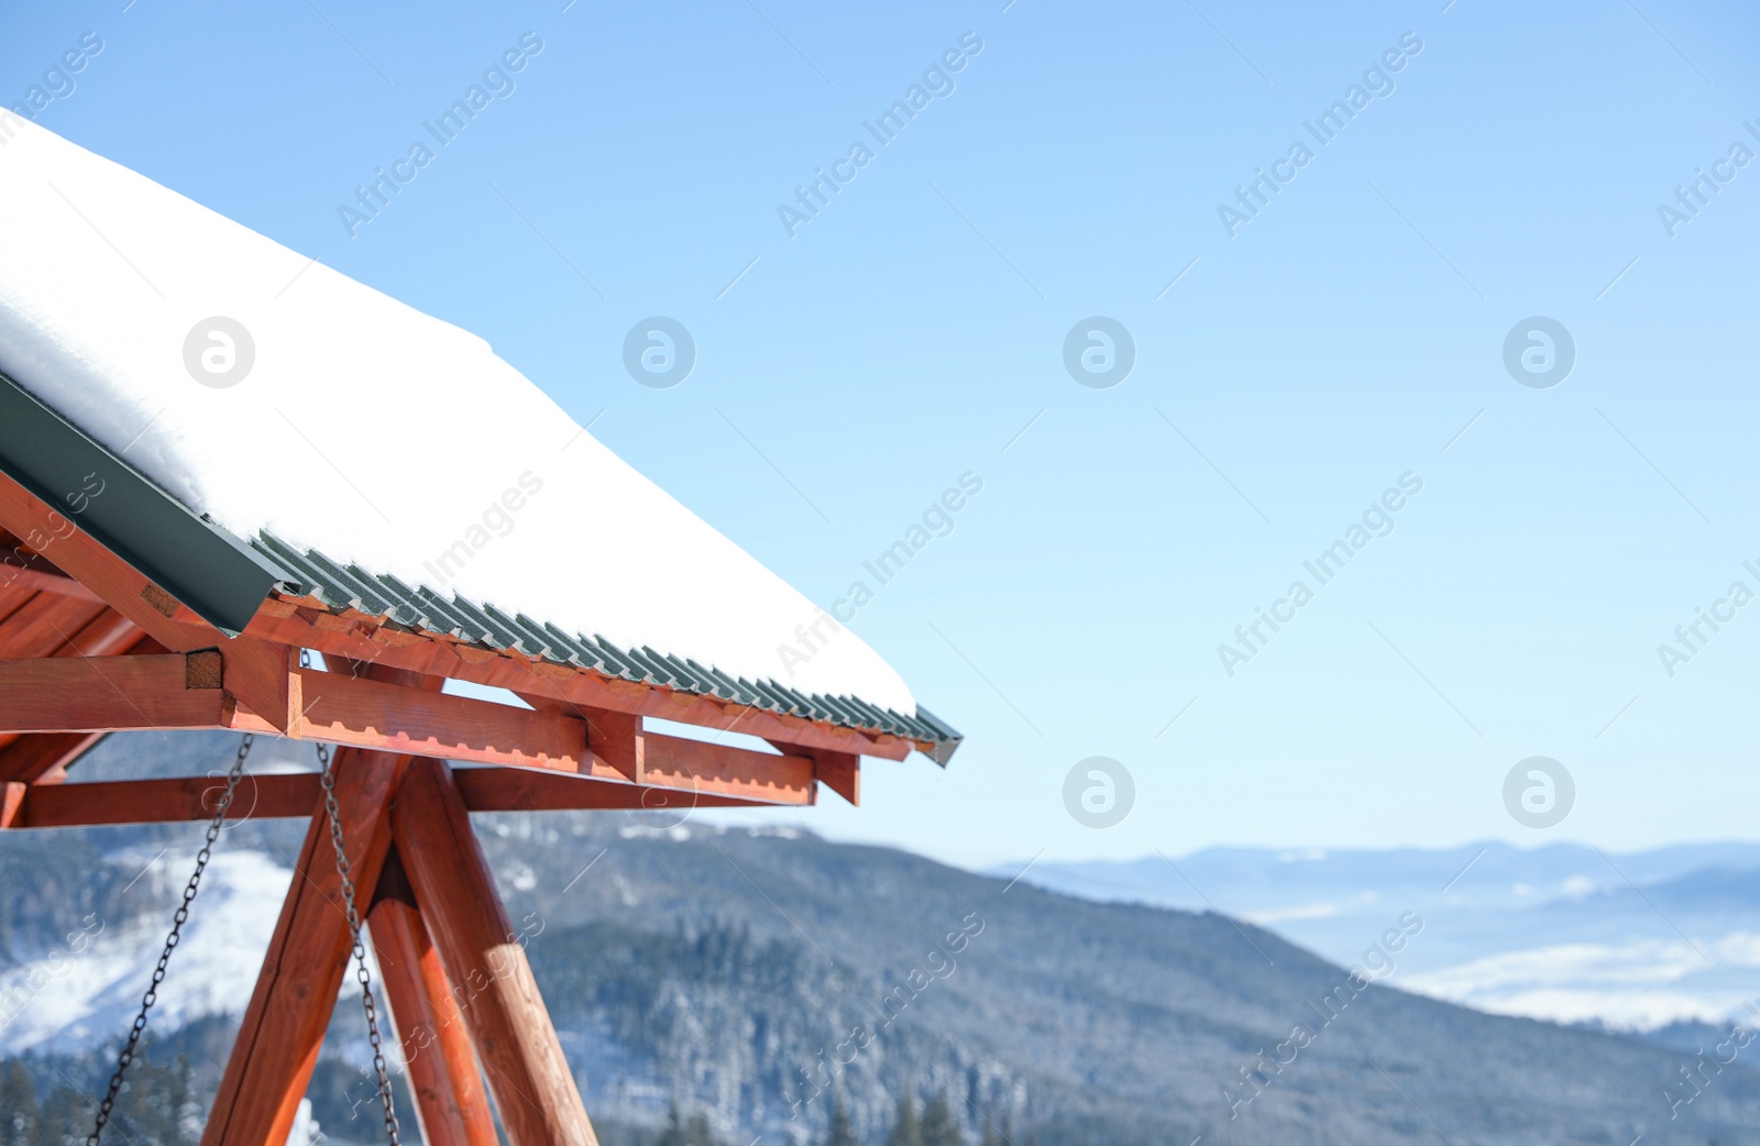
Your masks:
<svg viewBox="0 0 1760 1146"><path fill-rule="evenodd" d="M917 746L913 741L884 732L857 732L804 716L771 713L737 701L639 685L572 665L444 641L385 625L382 618L354 609L329 613L271 597L257 611L246 634L296 648L315 648L326 658L338 655L371 660L382 665L507 688L521 695L553 697L588 709L660 716L725 732L746 732L801 748L827 748L903 760Z"/></svg>

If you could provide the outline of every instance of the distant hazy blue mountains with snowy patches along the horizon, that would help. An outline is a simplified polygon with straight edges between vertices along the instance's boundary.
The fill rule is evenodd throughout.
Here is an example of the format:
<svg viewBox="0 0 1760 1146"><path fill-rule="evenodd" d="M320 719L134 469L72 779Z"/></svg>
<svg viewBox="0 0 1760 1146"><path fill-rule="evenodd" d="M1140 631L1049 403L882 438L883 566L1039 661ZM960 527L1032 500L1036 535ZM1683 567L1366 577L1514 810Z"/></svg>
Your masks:
<svg viewBox="0 0 1760 1146"><path fill-rule="evenodd" d="M1338 963L1360 958L1389 912L1419 910L1429 928L1399 984L1496 1014L1630 1032L1760 1017L1756 843L1209 848L1038 863L1023 878L1095 901L1221 910Z"/></svg>

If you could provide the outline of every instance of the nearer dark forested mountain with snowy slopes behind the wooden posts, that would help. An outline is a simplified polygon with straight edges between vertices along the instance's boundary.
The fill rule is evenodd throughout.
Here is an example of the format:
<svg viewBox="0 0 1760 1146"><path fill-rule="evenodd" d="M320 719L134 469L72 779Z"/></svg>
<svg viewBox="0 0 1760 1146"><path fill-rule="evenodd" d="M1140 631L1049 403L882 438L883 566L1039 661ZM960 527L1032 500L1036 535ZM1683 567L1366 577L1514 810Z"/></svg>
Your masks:
<svg viewBox="0 0 1760 1146"><path fill-rule="evenodd" d="M297 746L262 748L259 766L310 766ZM231 752L224 736L113 738L70 782L220 769ZM674 1106L732 1146L818 1142L834 1102L878 1142L901 1093L945 1093L968 1141L1007 1130L1017 1146L1760 1144L1760 1047L1725 1065L1697 1053L1727 1028L1674 1028L1670 1044L1410 989L1427 952L1466 942L1447 896L1489 905L1505 893L1470 878L1508 857L1480 856L1440 907L1380 885L1357 912L1373 926L1327 958L1274 929L1290 919L1095 901L1035 885L1070 875L1049 864L1010 885L764 820L477 817L607 1146L653 1142ZM292 820L229 829L172 959L150 1058L172 1083L188 1058L192 1111L213 1091L301 834ZM0 833L0 993L21 1000L0 1039L58 1109L107 1076L199 840L201 826ZM1324 861L1288 870L1306 863ZM1179 868L1234 894L1211 866ZM1637 875L1695 870L1656 859ZM1440 889L1454 871L1438 871ZM1322 884L1338 880L1290 887ZM72 951L70 935L90 938ZM363 1062L343 1000L312 1090L333 1141L377 1139Z"/></svg>

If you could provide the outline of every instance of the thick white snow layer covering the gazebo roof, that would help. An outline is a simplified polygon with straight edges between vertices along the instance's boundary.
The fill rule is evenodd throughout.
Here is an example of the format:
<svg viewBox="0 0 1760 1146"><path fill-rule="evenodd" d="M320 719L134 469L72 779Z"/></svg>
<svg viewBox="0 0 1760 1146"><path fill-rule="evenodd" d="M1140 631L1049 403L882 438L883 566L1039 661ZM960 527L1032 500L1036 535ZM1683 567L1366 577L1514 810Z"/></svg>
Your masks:
<svg viewBox="0 0 1760 1146"><path fill-rule="evenodd" d="M785 665L778 648L824 614L480 338L16 116L0 120L0 370L234 533L917 711L850 632L824 627ZM241 361L213 317L253 347L232 386L211 386Z"/></svg>

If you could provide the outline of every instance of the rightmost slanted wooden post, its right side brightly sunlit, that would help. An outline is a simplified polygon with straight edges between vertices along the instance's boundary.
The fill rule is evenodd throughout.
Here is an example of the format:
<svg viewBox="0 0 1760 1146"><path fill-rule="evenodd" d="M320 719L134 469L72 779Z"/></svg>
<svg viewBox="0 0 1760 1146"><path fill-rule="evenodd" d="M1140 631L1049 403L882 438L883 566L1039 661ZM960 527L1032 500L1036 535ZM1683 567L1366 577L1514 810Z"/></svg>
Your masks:
<svg viewBox="0 0 1760 1146"><path fill-rule="evenodd" d="M524 947L442 760L410 760L391 824L507 1135L514 1146L598 1146Z"/></svg>

